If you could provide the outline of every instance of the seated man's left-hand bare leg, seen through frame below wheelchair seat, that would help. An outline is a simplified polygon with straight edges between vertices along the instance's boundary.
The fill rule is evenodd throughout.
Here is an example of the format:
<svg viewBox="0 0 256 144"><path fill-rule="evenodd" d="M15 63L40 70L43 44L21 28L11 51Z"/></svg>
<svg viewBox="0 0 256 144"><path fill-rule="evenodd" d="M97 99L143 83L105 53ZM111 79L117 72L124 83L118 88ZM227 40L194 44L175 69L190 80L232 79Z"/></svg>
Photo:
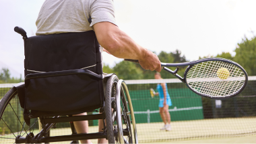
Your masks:
<svg viewBox="0 0 256 144"><path fill-rule="evenodd" d="M73 116L79 116L79 115L87 115L87 113L80 113L80 114L73 115ZM74 121L73 124L75 126L75 130L77 131L77 133L88 133L88 131L89 131L88 121ZM81 143L92 143L90 141L90 139L80 140L80 141L81 141Z"/></svg>

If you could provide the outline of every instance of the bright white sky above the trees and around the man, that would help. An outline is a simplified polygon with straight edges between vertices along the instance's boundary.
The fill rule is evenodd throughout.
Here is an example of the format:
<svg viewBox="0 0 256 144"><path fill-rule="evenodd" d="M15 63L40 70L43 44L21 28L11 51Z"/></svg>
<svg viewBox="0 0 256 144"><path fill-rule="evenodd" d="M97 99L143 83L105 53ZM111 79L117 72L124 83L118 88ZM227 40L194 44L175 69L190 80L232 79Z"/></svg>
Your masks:
<svg viewBox="0 0 256 144"><path fill-rule="evenodd" d="M44 0L0 0L0 68L11 76L24 76L22 36L36 33L36 18ZM159 54L181 50L187 60L235 55L242 39L256 35L256 1L251 0L114 0L117 25L137 44ZM252 33L251 31L254 31ZM103 53L104 64L115 66L122 59Z"/></svg>

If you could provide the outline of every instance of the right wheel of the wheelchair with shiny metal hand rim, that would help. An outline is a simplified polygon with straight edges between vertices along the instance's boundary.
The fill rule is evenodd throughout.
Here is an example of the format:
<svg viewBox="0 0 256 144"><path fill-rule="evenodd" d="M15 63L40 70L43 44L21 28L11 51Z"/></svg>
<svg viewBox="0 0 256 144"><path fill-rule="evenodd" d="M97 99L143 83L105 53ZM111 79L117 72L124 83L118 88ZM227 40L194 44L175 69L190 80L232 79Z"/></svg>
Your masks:
<svg viewBox="0 0 256 144"><path fill-rule="evenodd" d="M108 143L137 143L137 133L134 134L132 131L134 127L131 125L129 102L121 86L122 82L119 81L117 76L113 75L108 79L106 86L105 113Z"/></svg>

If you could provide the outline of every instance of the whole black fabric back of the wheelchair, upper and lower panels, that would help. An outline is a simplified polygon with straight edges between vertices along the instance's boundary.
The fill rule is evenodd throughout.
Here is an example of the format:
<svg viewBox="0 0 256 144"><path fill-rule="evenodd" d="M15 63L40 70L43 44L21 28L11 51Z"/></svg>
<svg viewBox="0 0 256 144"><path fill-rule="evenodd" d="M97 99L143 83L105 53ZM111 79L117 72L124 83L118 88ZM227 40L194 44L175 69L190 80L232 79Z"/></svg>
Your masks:
<svg viewBox="0 0 256 144"><path fill-rule="evenodd" d="M34 117L102 106L101 52L94 31L33 36L24 39L24 46L26 78L20 102Z"/></svg>

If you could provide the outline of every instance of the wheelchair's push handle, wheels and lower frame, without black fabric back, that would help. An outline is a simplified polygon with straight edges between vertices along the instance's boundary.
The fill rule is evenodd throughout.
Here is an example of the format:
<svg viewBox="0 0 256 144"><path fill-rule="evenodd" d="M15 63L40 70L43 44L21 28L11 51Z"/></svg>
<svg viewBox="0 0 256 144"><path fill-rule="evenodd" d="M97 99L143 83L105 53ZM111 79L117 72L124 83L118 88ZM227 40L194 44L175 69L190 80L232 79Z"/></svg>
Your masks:
<svg viewBox="0 0 256 144"><path fill-rule="evenodd" d="M15 27L15 31L20 33L23 36L23 39L26 40L27 36L26 36L26 31L24 31L24 29L20 27L18 28ZM15 98L16 94L18 94L18 91L19 91L18 87L24 87L24 82L21 82L20 84L15 85L0 100L0 118L1 118L0 121L1 120L3 121L3 113L5 112L7 105L8 104L11 105L10 101L13 98ZM32 133L27 133L27 131L30 130L36 122L31 127L29 125L30 128L26 130L24 127L25 122L22 125L19 117L16 115L15 111L13 110L13 112L19 119L20 124L22 125L22 130L24 129L27 133L26 137L23 137L23 135L18 135L18 133L21 133L22 130L17 132L17 136L15 136L13 133L13 135L15 136L15 143L50 143L50 142L59 142L59 141L72 141L71 143L78 143L78 140L102 139L102 138L108 139L108 143L138 143L133 106L131 104L131 98L129 95L127 85L125 84L125 81L119 80L115 74L108 74L103 78L103 90L104 90L105 100L103 102L103 106L100 107L101 114L82 115L82 116L69 115L68 117L61 117L61 115L56 115L51 118L49 116L40 116L39 123L42 123L42 130L36 135L34 135L33 133L34 130ZM18 104L19 104L19 101L18 101ZM35 118L35 117L33 117L32 115L26 115L26 113L24 113L24 117L23 117L24 121L26 121L26 119L32 119L32 118ZM88 120L97 120L97 119L106 120L106 121L103 121L104 129L102 129L103 130L102 132L80 133L80 134L76 133L75 127L73 125L73 121L88 121ZM5 123L5 121L3 122ZM64 122L70 123L72 134L51 137L50 130L52 128L55 128L56 123L64 123ZM126 126L125 129L123 128L123 123ZM131 127L131 123L133 127ZM7 124L5 123L5 125ZM24 135L26 133L24 133ZM125 139L124 136L128 136L128 139ZM1 138L3 137L0 137L0 142L1 142ZM9 139L9 138L6 138L6 139Z"/></svg>

